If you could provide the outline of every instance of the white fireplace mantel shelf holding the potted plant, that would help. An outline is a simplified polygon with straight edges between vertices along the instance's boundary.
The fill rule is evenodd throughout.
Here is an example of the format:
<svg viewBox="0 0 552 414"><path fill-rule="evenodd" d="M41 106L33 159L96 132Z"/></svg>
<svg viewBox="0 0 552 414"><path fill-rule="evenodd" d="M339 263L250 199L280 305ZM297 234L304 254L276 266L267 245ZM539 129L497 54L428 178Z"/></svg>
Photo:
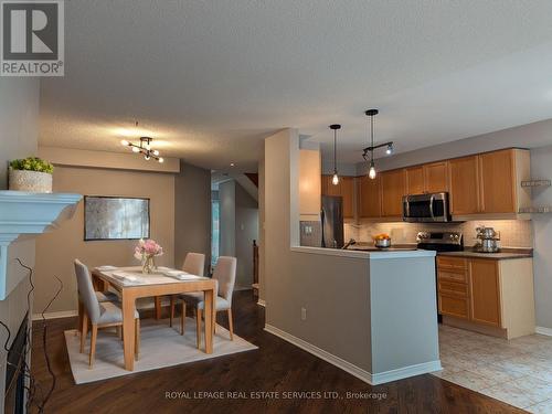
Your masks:
<svg viewBox="0 0 552 414"><path fill-rule="evenodd" d="M15 262L25 258L21 246L71 219L81 199L70 193L0 191L0 300L28 276Z"/></svg>

